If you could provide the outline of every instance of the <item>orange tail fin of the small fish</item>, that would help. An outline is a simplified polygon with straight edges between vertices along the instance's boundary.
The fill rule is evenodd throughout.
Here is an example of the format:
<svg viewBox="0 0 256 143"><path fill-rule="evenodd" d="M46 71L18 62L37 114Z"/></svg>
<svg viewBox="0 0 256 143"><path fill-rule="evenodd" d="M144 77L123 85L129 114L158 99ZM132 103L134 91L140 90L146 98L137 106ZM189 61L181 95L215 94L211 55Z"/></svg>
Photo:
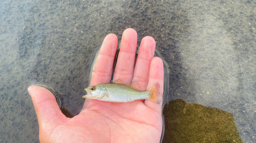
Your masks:
<svg viewBox="0 0 256 143"><path fill-rule="evenodd" d="M147 91L150 92L150 95L151 95L149 98L147 98L147 100L156 102L158 104L162 102L162 99L160 96L160 84L158 82L153 84L152 87Z"/></svg>

